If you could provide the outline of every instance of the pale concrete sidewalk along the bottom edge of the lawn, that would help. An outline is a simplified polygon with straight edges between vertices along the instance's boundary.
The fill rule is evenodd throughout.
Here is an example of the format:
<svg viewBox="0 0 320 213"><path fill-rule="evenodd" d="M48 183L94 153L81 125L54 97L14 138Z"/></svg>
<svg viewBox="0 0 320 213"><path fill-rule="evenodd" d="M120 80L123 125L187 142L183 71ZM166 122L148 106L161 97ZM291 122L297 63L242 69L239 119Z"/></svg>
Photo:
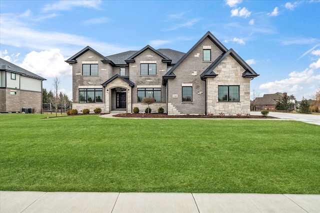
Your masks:
<svg viewBox="0 0 320 213"><path fill-rule="evenodd" d="M0 191L0 213L320 213L320 195Z"/></svg>

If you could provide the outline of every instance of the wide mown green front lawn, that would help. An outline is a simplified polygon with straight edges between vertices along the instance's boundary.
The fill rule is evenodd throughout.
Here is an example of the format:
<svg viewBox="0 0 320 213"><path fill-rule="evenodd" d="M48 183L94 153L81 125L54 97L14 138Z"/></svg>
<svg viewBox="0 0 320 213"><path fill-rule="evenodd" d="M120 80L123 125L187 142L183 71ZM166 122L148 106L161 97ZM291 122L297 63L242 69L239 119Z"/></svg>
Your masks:
<svg viewBox="0 0 320 213"><path fill-rule="evenodd" d="M320 194L320 126L46 116L0 114L0 190Z"/></svg>

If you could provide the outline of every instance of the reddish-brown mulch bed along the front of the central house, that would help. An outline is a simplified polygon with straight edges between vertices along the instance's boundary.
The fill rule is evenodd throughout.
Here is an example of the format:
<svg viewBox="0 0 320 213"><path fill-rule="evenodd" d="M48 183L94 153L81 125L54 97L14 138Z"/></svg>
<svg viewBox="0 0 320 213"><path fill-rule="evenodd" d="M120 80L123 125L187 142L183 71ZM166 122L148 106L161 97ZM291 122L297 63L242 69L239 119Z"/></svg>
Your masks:
<svg viewBox="0 0 320 213"><path fill-rule="evenodd" d="M261 115L167 115L165 113L119 113L113 115L113 117L122 117L122 118L275 118L272 116L263 117Z"/></svg>

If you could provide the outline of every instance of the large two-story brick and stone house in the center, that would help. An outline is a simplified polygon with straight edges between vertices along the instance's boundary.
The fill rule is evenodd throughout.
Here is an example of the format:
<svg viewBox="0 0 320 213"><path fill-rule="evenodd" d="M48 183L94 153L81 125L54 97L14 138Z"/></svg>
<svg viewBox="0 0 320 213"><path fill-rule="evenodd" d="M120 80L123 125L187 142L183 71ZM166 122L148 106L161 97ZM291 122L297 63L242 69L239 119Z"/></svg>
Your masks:
<svg viewBox="0 0 320 213"><path fill-rule="evenodd" d="M87 46L69 59L72 65L72 108L102 112L150 107L174 114L249 114L250 80L256 72L233 49L210 32L187 52L154 49L103 56Z"/></svg>

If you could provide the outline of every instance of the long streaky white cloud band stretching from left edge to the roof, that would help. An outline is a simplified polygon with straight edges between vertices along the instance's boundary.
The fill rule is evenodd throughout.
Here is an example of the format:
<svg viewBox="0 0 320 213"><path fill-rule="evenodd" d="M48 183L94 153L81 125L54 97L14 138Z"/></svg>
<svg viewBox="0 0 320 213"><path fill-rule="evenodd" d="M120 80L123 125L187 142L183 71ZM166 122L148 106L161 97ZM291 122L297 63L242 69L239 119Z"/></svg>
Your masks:
<svg viewBox="0 0 320 213"><path fill-rule="evenodd" d="M93 49L107 50L103 54L114 54L127 50L115 44L94 41L91 38L54 31L39 31L28 27L29 22L19 15L3 13L0 16L0 42L15 47L29 47L35 50L59 48L64 55L73 55L74 49L87 45ZM23 33L21 33L23 32Z"/></svg>

